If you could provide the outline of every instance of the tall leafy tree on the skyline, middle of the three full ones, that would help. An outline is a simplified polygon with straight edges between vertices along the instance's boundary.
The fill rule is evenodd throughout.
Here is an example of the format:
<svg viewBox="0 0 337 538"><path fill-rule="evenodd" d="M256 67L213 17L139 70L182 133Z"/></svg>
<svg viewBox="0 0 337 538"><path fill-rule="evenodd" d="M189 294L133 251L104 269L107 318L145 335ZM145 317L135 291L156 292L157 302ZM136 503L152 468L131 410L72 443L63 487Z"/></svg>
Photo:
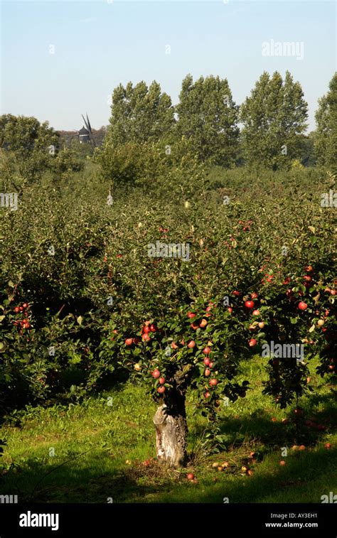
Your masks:
<svg viewBox="0 0 337 538"><path fill-rule="evenodd" d="M186 136L201 161L221 166L235 163L238 107L228 80L211 75L193 83L192 75L187 75L179 97L177 135Z"/></svg>

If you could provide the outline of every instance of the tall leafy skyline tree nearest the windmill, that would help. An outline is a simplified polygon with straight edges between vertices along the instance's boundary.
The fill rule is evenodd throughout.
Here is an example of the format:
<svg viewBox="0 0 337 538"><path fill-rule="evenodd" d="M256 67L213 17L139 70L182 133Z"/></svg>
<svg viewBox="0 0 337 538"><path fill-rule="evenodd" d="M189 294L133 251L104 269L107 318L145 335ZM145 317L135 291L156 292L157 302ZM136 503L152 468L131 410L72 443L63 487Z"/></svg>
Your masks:
<svg viewBox="0 0 337 538"><path fill-rule="evenodd" d="M173 128L174 109L171 97L161 92L154 80L133 86L128 82L114 89L107 143L114 147L129 142L159 141Z"/></svg>

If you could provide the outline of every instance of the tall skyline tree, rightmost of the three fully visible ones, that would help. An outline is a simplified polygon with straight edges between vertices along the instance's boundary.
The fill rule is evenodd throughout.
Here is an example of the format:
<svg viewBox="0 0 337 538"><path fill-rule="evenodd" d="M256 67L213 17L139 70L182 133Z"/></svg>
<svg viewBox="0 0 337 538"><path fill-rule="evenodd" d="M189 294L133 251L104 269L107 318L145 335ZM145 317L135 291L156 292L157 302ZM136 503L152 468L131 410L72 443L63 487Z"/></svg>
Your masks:
<svg viewBox="0 0 337 538"><path fill-rule="evenodd" d="M240 108L245 161L276 170L301 159L308 105L299 82L289 71L264 72Z"/></svg>

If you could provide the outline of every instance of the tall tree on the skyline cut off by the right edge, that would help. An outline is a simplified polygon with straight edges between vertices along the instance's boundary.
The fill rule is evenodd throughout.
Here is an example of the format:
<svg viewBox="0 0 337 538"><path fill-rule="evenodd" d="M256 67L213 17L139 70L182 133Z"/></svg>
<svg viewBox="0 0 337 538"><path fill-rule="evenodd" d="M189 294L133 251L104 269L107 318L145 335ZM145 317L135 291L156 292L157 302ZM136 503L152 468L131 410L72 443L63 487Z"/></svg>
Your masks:
<svg viewBox="0 0 337 538"><path fill-rule="evenodd" d="M329 91L319 99L315 114L315 154L321 165L337 166L337 72L333 75Z"/></svg>

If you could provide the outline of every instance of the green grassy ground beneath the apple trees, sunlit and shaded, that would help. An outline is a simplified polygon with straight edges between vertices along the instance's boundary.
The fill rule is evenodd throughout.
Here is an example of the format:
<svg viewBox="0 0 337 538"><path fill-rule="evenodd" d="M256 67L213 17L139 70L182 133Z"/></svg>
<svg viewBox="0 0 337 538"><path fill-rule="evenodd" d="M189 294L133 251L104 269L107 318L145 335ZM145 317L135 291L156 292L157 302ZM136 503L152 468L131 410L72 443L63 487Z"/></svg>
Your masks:
<svg viewBox="0 0 337 538"><path fill-rule="evenodd" d="M294 419L293 408L277 410L262 396L262 366L260 357L246 363L252 390L220 406L219 452L189 395L187 470L197 483L186 479L186 469L165 469L155 459L144 466L155 456L156 407L144 389L127 384L82 404L14 414L0 435L7 441L0 493L18 494L19 502L321 502L321 495L337 491L336 390L314 374L313 364L315 392L301 399L304 415ZM306 426L308 419L316 426ZM213 469L217 461L229 466ZM245 464L252 475L242 472Z"/></svg>

